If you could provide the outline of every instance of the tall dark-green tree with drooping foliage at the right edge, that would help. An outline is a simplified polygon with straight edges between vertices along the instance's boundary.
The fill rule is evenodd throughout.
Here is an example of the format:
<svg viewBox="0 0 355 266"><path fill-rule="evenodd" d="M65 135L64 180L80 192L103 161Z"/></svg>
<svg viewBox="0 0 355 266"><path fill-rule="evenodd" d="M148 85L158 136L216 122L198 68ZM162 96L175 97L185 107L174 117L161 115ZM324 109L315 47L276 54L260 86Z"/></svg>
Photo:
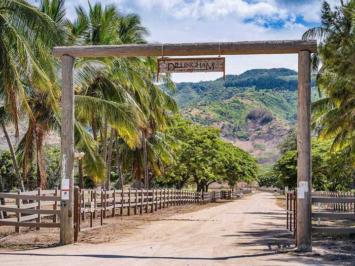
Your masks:
<svg viewBox="0 0 355 266"><path fill-rule="evenodd" d="M324 2L321 11L322 25L303 34L319 41L312 66L324 98L312 104L312 126L319 140L331 139L331 150L347 150L355 164L355 1L334 8Z"/></svg>

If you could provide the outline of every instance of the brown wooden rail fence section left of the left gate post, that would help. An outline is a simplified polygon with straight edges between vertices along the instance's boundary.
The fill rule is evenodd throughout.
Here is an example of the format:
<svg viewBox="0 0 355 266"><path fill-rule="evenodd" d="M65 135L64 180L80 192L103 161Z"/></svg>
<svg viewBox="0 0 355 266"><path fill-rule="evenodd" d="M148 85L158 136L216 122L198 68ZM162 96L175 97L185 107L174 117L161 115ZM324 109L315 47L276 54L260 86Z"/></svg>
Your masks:
<svg viewBox="0 0 355 266"><path fill-rule="evenodd" d="M38 188L30 192L17 190L16 193L0 193L0 198L12 201L10 205L0 205L0 212L15 214L15 217L0 219L0 225L15 226L16 232L20 232L20 227L36 227L37 230L40 230L40 227L60 227L60 196L57 188ZM44 220L47 216L52 216L52 219Z"/></svg>

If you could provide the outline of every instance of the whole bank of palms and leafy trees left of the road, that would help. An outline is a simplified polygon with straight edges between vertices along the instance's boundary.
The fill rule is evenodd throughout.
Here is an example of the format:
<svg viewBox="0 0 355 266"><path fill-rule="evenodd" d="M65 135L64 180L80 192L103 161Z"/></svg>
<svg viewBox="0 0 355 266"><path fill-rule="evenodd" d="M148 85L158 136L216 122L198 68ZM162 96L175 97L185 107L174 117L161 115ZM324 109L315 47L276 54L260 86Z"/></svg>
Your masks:
<svg viewBox="0 0 355 266"><path fill-rule="evenodd" d="M54 46L145 44L138 14L88 2L66 17L64 0L0 0L0 125L9 150L0 155L0 191L58 186L61 64ZM220 130L176 116L170 75L156 80L155 57L77 58L74 65L75 180L80 187L137 188L256 179L256 160L221 139ZM223 111L221 111L223 115ZM19 125L27 125L20 136ZM8 128L15 128L15 143Z"/></svg>

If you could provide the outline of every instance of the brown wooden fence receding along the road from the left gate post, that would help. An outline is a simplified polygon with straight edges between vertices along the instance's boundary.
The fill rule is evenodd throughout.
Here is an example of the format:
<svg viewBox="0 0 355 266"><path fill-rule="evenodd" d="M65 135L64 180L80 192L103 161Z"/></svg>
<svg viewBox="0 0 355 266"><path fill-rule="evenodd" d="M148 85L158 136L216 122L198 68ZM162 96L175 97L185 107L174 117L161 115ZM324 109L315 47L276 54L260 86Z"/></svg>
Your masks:
<svg viewBox="0 0 355 266"><path fill-rule="evenodd" d="M219 199L230 199L232 193L226 191L192 192L184 189L79 189L74 191L74 241L78 233L102 226L102 219L109 216L154 213L158 209L186 204L208 204ZM87 213L90 213L90 227L83 227ZM94 225L98 212L99 225ZM110 213L109 213L110 212Z"/></svg>

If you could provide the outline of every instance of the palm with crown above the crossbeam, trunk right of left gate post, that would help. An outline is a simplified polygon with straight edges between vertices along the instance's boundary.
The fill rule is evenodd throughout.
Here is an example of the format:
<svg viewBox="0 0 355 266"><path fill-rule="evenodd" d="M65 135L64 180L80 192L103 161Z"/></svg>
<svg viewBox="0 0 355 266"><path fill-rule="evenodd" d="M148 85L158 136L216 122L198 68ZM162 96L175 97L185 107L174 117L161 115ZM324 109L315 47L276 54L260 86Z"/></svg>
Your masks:
<svg viewBox="0 0 355 266"><path fill-rule="evenodd" d="M123 30L119 27L119 24L123 24L121 22L122 17L115 6L102 7L100 3L91 6L89 3L88 13L81 6L76 8L76 12L77 19L74 22L67 21L67 26L76 36L77 41L75 42L77 44L109 45L121 44L122 40L128 40L127 36L122 35ZM136 30L143 30L143 27L136 27ZM132 32L130 34L133 35ZM144 35L143 33L139 34ZM95 112L90 112L90 117L86 118L87 123L91 125L94 139L97 140L97 131L100 132L102 160L107 165L107 182L105 185L109 186L113 138L116 132L131 147L139 144L138 129L144 127L145 119L143 112L130 96L127 88L140 86L142 82L140 81L140 73L135 70L137 69L136 64L139 62L136 59L101 58L96 60L104 63L107 66L107 71L97 75L96 79L80 92L81 97L92 97L132 107L132 113L127 112L128 117L101 116L95 115ZM117 75L117 73L119 74ZM108 131L111 132L109 146Z"/></svg>

